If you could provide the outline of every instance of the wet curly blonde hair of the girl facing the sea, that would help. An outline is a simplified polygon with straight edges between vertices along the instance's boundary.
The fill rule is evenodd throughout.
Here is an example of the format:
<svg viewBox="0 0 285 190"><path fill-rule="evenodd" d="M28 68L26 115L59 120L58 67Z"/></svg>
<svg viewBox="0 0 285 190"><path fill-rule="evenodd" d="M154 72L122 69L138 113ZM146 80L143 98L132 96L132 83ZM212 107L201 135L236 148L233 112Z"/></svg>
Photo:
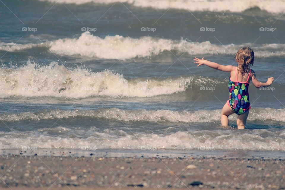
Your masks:
<svg viewBox="0 0 285 190"><path fill-rule="evenodd" d="M235 61L238 63L238 71L244 75L250 71L254 62L254 51L249 47L241 47L235 54Z"/></svg>

